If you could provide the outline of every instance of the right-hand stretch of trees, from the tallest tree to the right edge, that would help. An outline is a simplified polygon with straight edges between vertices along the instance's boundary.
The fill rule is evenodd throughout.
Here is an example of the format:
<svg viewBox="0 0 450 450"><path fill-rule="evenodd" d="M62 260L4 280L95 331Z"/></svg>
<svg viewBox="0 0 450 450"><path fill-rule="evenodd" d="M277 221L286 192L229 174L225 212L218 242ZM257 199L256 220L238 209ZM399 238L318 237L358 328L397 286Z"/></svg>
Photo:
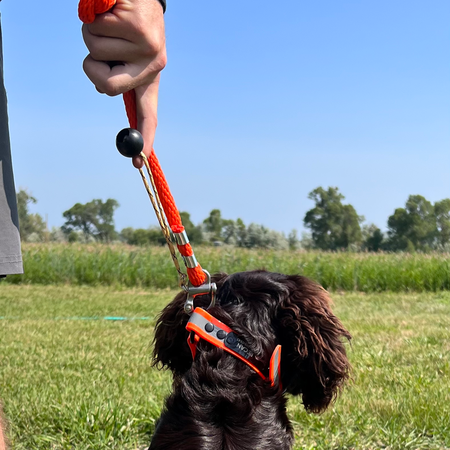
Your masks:
<svg viewBox="0 0 450 450"><path fill-rule="evenodd" d="M378 251L450 250L450 199L434 203L422 195L410 195L404 208L387 219L387 232L373 223L362 225L364 216L352 205L343 205L337 187L318 187L308 198L315 202L304 218L311 230L311 245L322 250L358 247Z"/></svg>

